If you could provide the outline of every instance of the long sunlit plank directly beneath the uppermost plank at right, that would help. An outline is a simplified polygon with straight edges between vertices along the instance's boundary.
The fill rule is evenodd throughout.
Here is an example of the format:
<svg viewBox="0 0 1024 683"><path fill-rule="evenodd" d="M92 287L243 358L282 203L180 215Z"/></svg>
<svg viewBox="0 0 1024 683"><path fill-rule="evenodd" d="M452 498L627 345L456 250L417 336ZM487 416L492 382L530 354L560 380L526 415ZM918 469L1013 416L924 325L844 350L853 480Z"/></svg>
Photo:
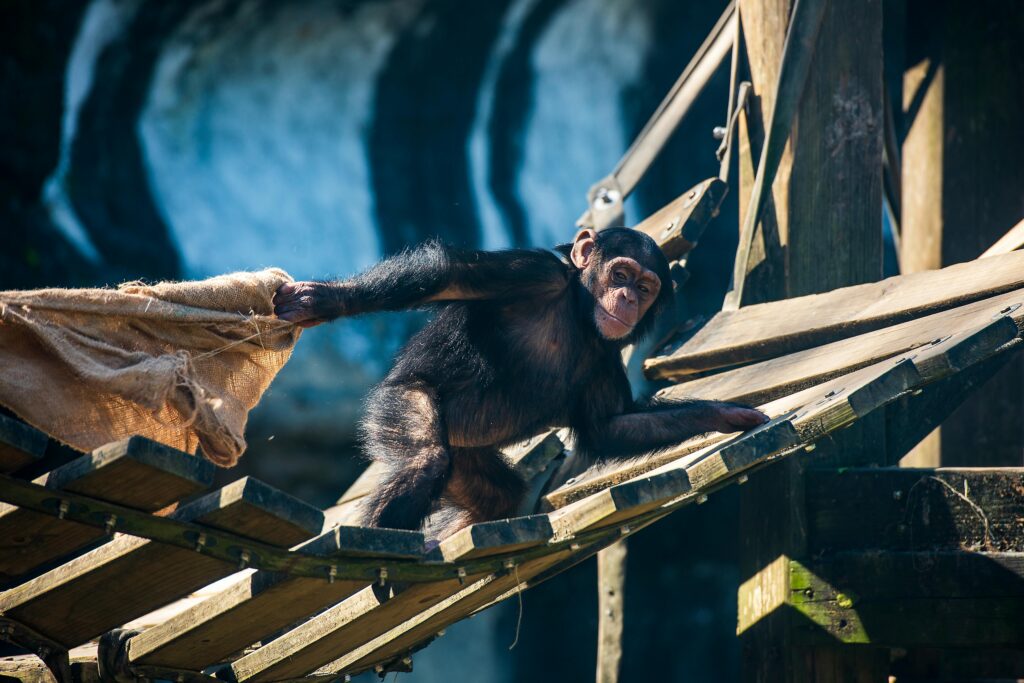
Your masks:
<svg viewBox="0 0 1024 683"><path fill-rule="evenodd" d="M1006 311L1024 321L1024 291L1012 292L916 321L799 351L780 358L678 384L666 397L717 398L761 403L879 362L935 340L964 334Z"/></svg>

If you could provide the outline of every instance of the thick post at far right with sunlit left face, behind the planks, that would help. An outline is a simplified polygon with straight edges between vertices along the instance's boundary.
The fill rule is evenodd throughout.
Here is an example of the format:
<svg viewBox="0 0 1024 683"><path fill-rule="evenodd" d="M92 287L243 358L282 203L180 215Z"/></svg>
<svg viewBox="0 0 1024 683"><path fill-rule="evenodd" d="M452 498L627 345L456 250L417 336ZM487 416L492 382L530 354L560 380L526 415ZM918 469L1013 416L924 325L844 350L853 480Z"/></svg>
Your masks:
<svg viewBox="0 0 1024 683"><path fill-rule="evenodd" d="M1024 4L908 0L903 77L905 272L977 258L1024 215ZM1016 466L1024 358L972 395L904 465Z"/></svg>

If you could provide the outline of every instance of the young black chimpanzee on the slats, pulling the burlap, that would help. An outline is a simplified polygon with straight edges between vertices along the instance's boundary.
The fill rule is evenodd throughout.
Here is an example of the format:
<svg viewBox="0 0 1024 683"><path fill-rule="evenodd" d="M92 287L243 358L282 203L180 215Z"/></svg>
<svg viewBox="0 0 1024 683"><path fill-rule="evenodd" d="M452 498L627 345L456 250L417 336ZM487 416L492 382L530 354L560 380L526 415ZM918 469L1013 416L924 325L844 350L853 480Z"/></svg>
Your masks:
<svg viewBox="0 0 1024 683"><path fill-rule="evenodd" d="M274 312L309 327L436 306L370 395L361 437L386 468L366 522L418 529L443 499L444 537L515 514L525 484L499 449L546 429L567 426L578 452L607 459L767 421L738 403L633 401L622 348L671 302L654 241L611 228L555 252L427 242L350 280L282 285Z"/></svg>

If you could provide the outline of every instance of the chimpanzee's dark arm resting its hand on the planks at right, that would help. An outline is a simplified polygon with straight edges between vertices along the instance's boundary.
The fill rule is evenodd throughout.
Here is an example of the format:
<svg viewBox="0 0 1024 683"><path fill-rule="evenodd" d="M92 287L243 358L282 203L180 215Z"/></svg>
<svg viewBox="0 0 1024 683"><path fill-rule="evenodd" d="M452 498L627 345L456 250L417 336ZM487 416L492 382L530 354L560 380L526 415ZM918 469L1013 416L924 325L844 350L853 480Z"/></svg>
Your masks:
<svg viewBox="0 0 1024 683"><path fill-rule="evenodd" d="M599 458L637 456L675 445L706 432L744 431L768 416L741 403L720 400L657 401L578 429L581 445Z"/></svg>

